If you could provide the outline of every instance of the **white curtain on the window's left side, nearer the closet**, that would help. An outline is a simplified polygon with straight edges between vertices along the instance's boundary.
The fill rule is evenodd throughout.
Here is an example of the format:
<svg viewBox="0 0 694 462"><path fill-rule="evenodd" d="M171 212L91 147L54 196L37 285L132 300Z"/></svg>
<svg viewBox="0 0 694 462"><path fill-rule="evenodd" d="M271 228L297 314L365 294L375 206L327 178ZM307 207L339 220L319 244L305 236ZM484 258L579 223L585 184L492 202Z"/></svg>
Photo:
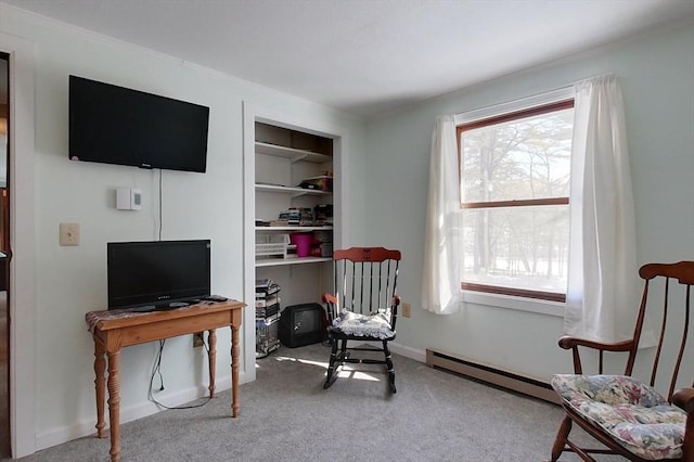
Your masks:
<svg viewBox="0 0 694 462"><path fill-rule="evenodd" d="M458 175L455 123L453 116L439 116L432 136L422 283L422 306L438 315L459 311L462 299L462 214Z"/></svg>

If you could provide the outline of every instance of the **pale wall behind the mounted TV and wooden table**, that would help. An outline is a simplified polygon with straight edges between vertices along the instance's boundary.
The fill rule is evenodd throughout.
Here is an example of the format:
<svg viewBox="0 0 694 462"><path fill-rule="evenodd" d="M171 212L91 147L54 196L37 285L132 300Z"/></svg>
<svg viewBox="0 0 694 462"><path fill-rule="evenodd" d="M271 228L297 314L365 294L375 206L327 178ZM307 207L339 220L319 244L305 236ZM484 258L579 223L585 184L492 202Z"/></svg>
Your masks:
<svg viewBox="0 0 694 462"><path fill-rule="evenodd" d="M35 449L41 449L94 431L93 343L85 313L106 304L106 242L157 238L158 170L67 159L68 75L210 107L207 174L164 171L162 238L211 239L213 291L237 299L244 297L242 103L339 127L348 140L347 171L352 164L363 164L363 125L324 106L4 4L0 4L0 18L1 34L22 37L34 48L35 168L21 178L33 182L35 194L36 283L29 290L35 291L36 306L24 308L36 313L36 329L17 334L35 341L36 358L13 354L23 364L34 363L28 373L36 383L35 396L29 398L36 401L34 427L16 432L33 434ZM116 187L140 188L142 210L116 210ZM362 189L354 191L351 196L347 193L348 213L363 204ZM77 247L59 246L59 223L66 221L81 226ZM22 309L17 307L18 312ZM253 308L246 315L246 325L254 330ZM229 337L228 331L218 333L220 389L230 385L230 352L223 347ZM153 343L121 354L123 422L156 410L147 401L155 351ZM242 355L242 381L254 380L253 342L243 345ZM193 350L191 336L167 341L162 364L166 389L158 399L176 405L203 394L205 361L203 349ZM14 399L22 394L16 390Z"/></svg>

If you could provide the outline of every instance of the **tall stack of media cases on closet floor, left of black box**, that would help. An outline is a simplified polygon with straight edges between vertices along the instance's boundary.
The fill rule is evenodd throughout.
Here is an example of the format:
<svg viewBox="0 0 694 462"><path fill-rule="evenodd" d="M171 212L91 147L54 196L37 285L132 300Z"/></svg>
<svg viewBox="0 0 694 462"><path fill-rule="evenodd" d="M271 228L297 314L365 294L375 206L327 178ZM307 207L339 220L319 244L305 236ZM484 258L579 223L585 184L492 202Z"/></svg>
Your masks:
<svg viewBox="0 0 694 462"><path fill-rule="evenodd" d="M256 357L280 347L280 285L269 279L256 280Z"/></svg>

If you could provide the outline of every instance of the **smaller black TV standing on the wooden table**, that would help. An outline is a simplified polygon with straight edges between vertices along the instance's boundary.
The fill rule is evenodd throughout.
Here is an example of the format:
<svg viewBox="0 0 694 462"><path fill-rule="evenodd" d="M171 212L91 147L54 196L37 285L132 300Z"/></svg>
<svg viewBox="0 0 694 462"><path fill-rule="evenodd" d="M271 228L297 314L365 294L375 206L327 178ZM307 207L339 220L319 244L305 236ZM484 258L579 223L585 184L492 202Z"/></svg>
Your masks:
<svg viewBox="0 0 694 462"><path fill-rule="evenodd" d="M106 244L108 309L162 307L209 295L210 241Z"/></svg>

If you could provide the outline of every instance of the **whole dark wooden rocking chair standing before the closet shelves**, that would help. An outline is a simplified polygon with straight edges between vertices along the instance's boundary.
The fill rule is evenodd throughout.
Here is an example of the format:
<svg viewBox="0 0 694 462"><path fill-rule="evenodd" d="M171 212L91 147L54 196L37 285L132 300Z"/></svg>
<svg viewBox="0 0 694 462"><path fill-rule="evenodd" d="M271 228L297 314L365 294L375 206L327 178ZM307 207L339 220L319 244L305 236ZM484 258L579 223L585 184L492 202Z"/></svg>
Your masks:
<svg viewBox="0 0 694 462"><path fill-rule="evenodd" d="M330 365L323 388L329 388L345 363L385 364L390 390L396 393L388 342L395 339L400 297L397 295L400 252L383 247L335 251L335 292L324 294L327 311ZM376 344L349 346L348 342ZM384 359L354 357L352 351L382 351Z"/></svg>

